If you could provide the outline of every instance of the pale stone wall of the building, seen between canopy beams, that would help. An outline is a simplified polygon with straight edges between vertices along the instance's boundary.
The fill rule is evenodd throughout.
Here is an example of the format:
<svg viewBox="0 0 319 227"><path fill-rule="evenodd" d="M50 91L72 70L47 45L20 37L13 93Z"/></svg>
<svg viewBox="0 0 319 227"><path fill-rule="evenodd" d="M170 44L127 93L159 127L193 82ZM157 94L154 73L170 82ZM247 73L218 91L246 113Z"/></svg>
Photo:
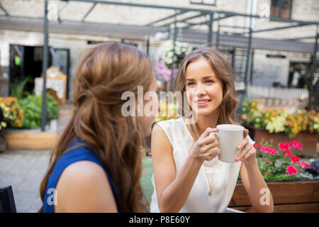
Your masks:
<svg viewBox="0 0 319 227"><path fill-rule="evenodd" d="M279 1L279 0L278 0ZM276 9L275 4L278 1L274 0L216 0L216 4L200 5L191 4L190 0L131 0L121 1L130 2L133 4L155 4L160 6L174 6L184 7L192 9L208 9L214 11L231 11L235 13L252 13L257 15L269 15L274 13ZM211 1L208 1L211 2ZM319 1L318 0L292 0L289 10L286 7L281 7L282 16L287 16L289 11L289 18L300 21L318 21L319 16ZM10 16L28 16L32 18L43 17L44 4L43 0L1 0L1 6L4 10L0 9L0 16L6 16L9 13ZM49 1L49 18L51 20L57 20L57 12L60 11L60 18L62 21L81 21L86 15L89 9L93 6L91 3L79 3L75 1L69 1L67 4L64 1ZM284 11L283 11L284 9ZM115 6L108 4L98 4L92 9L88 16L86 16L86 22L96 23L114 23L114 24L127 24L143 26L152 21L156 21L160 18L172 15L172 10L161 9L145 9L130 6ZM178 20L189 17L196 13L184 13L177 16ZM218 13L214 14L214 18L222 16ZM280 15L279 15L280 16ZM191 23L201 23L207 19L207 16L200 18L194 18L189 21ZM162 24L172 22L172 19L163 21ZM269 21L267 18L253 18L252 21L253 30L261 30L273 27L287 26L292 23L282 23ZM224 26L242 26L247 27L250 25L250 19L240 16L233 16L225 18L219 21L220 25ZM157 25L161 25L158 23ZM185 26L183 23L178 23L177 26ZM194 29L199 31L207 31L206 25L194 26ZM213 23L213 31L218 30L218 23ZM225 28L223 32L237 32L241 33L240 29ZM316 33L315 26L302 26L300 28L287 28L279 31L267 31L261 33L254 33L254 38L269 38L269 39L291 39L301 37L314 37ZM1 72L2 77L9 77L9 64L10 64L10 45L24 45L24 46L42 46L43 45L43 33L36 31L16 31L11 29L0 29L0 51L1 51ZM126 37L106 37L99 35L77 35L67 33L50 33L49 45L53 48L66 48L69 49L69 72L72 72L74 63L76 62L79 52L84 48L94 45L96 42L103 42L106 40L125 40ZM146 52L146 40L125 40L126 42L133 43ZM303 42L313 43L313 38L302 39ZM150 37L150 57L155 60L156 47L160 41L154 37ZM267 57L274 55L282 55L284 58ZM252 68L252 84L257 86L272 86L274 83L281 84L288 87L289 84L289 70L291 70L291 62L297 64L298 62L304 65L310 63L310 54L298 53L298 52L278 52L276 50L254 50L254 61ZM296 65L295 64L295 65ZM297 64L298 65L298 64ZM37 75L40 76L40 75ZM290 76L291 77L291 76ZM291 83L291 78L290 78ZM70 84L70 87L72 84ZM2 85L1 95L8 94L8 84Z"/></svg>

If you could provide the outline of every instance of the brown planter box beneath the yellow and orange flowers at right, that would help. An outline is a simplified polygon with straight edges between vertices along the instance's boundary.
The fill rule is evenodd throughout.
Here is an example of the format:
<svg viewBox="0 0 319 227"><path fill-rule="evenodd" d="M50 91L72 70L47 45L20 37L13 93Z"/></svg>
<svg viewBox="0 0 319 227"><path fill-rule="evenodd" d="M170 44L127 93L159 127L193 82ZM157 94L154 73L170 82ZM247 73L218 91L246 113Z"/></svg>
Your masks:
<svg viewBox="0 0 319 227"><path fill-rule="evenodd" d="M281 142L289 143L291 140L295 140L303 145L303 153L319 153L318 150L318 134L317 133L298 133L295 138L289 138L286 133L268 133L264 128L251 128L247 127L250 131L252 139L259 143L262 138L264 140L273 140L273 145L278 145Z"/></svg>

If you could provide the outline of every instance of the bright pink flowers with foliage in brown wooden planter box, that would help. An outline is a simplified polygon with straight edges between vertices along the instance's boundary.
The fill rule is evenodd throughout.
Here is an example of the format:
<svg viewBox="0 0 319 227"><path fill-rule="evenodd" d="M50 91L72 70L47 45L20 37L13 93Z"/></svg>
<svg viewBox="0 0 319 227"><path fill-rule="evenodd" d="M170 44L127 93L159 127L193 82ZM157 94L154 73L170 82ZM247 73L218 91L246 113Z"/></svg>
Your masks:
<svg viewBox="0 0 319 227"><path fill-rule="evenodd" d="M274 212L319 212L319 177L308 171L310 163L294 155L303 150L303 145L291 140L274 148L271 143L262 141L254 147L257 148L259 170L272 192ZM240 181L229 206L254 212Z"/></svg>

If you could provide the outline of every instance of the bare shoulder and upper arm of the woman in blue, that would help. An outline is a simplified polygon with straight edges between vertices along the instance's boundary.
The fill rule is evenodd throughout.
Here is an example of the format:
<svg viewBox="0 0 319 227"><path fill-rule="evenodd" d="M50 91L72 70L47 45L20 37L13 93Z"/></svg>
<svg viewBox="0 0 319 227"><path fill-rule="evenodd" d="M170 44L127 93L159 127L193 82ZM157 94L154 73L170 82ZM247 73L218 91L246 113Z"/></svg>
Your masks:
<svg viewBox="0 0 319 227"><path fill-rule="evenodd" d="M56 212L116 212L116 202L103 168L88 160L74 162L57 182Z"/></svg>

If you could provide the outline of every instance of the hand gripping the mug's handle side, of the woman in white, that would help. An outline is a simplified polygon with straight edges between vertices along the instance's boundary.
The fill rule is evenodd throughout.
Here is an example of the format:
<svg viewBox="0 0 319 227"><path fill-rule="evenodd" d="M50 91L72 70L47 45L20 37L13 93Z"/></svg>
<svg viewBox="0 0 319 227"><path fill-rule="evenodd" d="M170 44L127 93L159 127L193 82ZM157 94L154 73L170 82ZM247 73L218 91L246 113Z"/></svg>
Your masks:
<svg viewBox="0 0 319 227"><path fill-rule="evenodd" d="M190 155L201 161L210 161L216 157L219 154L218 138L217 135L210 134L217 131L217 128L206 128L191 149Z"/></svg>

